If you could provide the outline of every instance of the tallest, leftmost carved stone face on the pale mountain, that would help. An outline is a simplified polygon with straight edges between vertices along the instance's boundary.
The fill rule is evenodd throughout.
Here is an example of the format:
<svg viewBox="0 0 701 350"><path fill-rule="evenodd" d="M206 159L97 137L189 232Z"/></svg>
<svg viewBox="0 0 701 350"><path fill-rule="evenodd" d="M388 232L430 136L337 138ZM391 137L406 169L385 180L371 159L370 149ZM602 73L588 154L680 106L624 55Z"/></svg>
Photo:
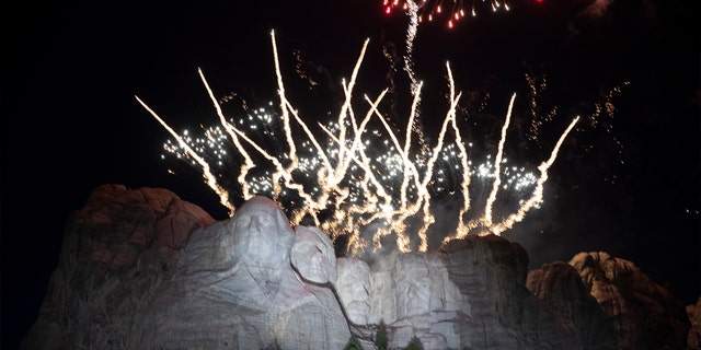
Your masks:
<svg viewBox="0 0 701 350"><path fill-rule="evenodd" d="M232 220L233 254L256 280L279 280L295 240L285 213L272 199L258 196L243 203Z"/></svg>

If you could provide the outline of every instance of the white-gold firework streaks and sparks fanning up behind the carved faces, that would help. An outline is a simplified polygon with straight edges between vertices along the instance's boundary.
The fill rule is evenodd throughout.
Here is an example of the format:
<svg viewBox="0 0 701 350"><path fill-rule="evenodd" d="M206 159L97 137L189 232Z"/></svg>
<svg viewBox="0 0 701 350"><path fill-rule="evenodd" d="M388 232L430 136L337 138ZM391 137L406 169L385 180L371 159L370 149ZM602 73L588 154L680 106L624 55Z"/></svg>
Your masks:
<svg viewBox="0 0 701 350"><path fill-rule="evenodd" d="M399 133L378 109L387 90L375 98L365 96L367 109L361 119L357 117L360 116L356 113L358 108L350 103L368 45L365 40L350 79L343 81L345 103L337 119L319 124L322 135L327 137L322 140L287 100L274 32L271 32L271 37L278 83L278 113L260 108L238 121L227 119L202 70L200 79L220 121L220 126L206 129L204 138L193 139L187 132L179 135L146 103L136 98L175 139L174 143L165 143L165 150L199 166L205 183L219 196L220 203L229 209L230 214L235 208L229 191L219 184L220 180L230 180L230 176L218 176L212 166L220 168L230 164L234 156L232 153L235 153L241 163L235 182L242 199L258 194L271 196L289 212L292 224L311 220L334 240L346 236L346 249L352 255L370 247L374 250L380 248L390 235L395 237L397 248L401 252L425 252L428 248L428 230L436 222L432 205L441 196L461 202L456 232L445 241L470 233L498 235L508 230L542 202L548 170L578 120L578 117L572 120L562 133L550 158L538 166L538 175L522 167L508 166L503 144L516 98L514 94L494 163L489 156L486 162L474 166L469 159L469 144L466 147L457 124L456 108L461 94L456 93L450 66L446 65L450 107L435 144L415 147L416 140L422 138L415 125L421 83L413 91L414 102L402 143ZM372 120L379 121L382 128L371 129ZM275 133L280 128L281 132ZM301 130L292 131L292 128ZM283 142L269 147L260 138L281 138ZM472 177L479 180L472 182ZM481 214L471 215L470 191L474 186L485 184L492 188L484 209ZM496 213L494 209L497 194L503 191L519 194L516 209L506 215ZM418 242L414 241L415 237Z"/></svg>

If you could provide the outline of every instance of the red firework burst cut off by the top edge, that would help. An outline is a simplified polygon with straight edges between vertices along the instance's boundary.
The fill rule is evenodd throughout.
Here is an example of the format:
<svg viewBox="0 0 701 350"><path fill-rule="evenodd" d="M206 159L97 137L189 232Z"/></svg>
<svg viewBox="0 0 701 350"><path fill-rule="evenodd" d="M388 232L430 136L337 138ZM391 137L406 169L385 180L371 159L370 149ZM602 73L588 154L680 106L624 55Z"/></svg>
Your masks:
<svg viewBox="0 0 701 350"><path fill-rule="evenodd" d="M443 19L452 28L463 18L476 16L478 8L489 8L493 12L509 11L506 1L499 0L383 0L384 13L392 14L403 11L414 14L420 23Z"/></svg>

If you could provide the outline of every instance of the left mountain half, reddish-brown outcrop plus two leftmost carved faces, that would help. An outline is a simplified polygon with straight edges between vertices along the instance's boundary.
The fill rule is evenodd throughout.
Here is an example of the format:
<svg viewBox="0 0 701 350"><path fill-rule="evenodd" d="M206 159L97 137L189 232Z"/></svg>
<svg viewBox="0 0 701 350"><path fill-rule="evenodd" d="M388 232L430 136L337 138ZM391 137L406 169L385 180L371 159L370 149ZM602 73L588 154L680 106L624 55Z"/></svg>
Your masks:
<svg viewBox="0 0 701 350"><path fill-rule="evenodd" d="M168 190L102 186L69 220L22 348L342 349L332 280L331 241L271 199L215 222Z"/></svg>

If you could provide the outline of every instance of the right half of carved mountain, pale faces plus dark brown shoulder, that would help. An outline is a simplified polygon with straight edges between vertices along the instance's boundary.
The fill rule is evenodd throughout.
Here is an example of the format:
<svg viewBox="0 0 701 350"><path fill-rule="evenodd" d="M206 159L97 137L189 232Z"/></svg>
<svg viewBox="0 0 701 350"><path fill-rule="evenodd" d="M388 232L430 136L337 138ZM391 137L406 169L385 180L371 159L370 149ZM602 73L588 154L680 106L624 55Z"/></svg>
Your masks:
<svg viewBox="0 0 701 350"><path fill-rule="evenodd" d="M391 349L582 349L526 289L528 256L498 236L468 236L441 252L381 257L370 268L338 259L336 284L354 335L382 326ZM372 348L368 348L372 349Z"/></svg>

